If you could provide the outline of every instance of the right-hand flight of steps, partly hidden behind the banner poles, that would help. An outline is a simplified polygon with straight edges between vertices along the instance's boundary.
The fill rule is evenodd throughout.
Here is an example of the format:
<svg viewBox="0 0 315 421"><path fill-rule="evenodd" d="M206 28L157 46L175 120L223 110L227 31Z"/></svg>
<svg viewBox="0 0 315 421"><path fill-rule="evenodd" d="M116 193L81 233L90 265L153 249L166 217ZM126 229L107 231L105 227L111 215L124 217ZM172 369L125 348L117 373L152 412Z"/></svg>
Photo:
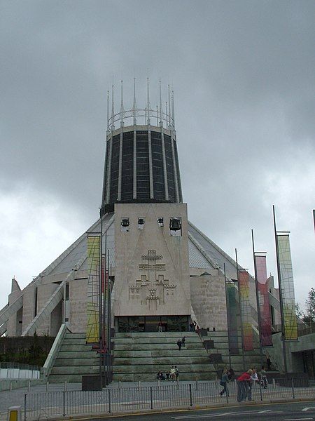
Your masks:
<svg viewBox="0 0 315 421"><path fill-rule="evenodd" d="M229 366L229 345L228 345L228 332L226 330L216 330L215 332L208 332L207 337L204 340L213 340L214 349L210 349L210 354L221 354L222 362L216 364L218 368L224 368ZM254 347L253 351L244 352L245 369L248 370L251 367L256 367L259 371L261 368L260 361L260 349ZM263 363L266 362L264 356ZM239 355L231 355L231 366L235 373L244 372L243 356L241 353L241 341L239 341Z"/></svg>

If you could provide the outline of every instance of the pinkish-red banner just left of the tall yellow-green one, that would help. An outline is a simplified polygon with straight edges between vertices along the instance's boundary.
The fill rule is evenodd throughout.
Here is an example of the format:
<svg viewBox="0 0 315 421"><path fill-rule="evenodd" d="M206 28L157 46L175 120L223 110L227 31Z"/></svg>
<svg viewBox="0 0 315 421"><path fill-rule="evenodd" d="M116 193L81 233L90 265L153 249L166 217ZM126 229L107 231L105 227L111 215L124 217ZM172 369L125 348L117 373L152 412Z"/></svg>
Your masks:
<svg viewBox="0 0 315 421"><path fill-rule="evenodd" d="M272 322L269 307L266 256L255 255L258 286L258 312L260 314L260 340L262 347L272 346Z"/></svg>

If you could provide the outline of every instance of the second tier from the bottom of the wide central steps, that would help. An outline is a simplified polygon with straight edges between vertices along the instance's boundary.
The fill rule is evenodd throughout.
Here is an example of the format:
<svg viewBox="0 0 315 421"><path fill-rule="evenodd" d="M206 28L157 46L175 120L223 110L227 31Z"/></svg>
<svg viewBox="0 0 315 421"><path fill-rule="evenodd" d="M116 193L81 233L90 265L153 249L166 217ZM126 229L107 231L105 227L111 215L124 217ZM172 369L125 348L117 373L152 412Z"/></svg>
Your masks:
<svg viewBox="0 0 315 421"><path fill-rule="evenodd" d="M174 365L174 364L172 364ZM158 371L162 371L165 373L167 370L171 370L172 365L169 364L157 364L155 365L138 365L138 366L116 366L114 362L113 371L115 373L158 373ZM179 368L179 373L203 373L204 371L211 371L214 372L215 368L212 364L195 364L192 366L191 364L177 364L176 366Z"/></svg>

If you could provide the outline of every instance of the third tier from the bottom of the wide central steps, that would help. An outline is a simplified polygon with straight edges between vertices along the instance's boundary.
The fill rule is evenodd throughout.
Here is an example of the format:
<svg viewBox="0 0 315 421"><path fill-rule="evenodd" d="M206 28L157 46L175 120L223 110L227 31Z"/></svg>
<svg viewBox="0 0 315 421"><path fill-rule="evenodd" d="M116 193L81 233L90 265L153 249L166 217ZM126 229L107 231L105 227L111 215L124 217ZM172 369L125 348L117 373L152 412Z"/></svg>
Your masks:
<svg viewBox="0 0 315 421"><path fill-rule="evenodd" d="M176 364L208 364L209 356L178 356L176 357ZM122 364L123 366L134 366L139 364L169 364L170 366L174 365L174 357L171 356L160 356L155 358L149 357L139 357L139 358L125 358L125 357L114 357L113 363L115 365Z"/></svg>

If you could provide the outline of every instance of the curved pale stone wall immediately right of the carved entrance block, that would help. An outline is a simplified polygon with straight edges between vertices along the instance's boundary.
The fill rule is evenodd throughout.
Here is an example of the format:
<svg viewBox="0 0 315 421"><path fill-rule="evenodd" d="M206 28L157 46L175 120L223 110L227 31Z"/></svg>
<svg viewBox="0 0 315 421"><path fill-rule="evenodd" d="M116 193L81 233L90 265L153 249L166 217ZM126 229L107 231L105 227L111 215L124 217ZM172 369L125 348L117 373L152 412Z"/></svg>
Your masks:
<svg viewBox="0 0 315 421"><path fill-rule="evenodd" d="M228 329L224 276L191 276L190 294L200 328Z"/></svg>

